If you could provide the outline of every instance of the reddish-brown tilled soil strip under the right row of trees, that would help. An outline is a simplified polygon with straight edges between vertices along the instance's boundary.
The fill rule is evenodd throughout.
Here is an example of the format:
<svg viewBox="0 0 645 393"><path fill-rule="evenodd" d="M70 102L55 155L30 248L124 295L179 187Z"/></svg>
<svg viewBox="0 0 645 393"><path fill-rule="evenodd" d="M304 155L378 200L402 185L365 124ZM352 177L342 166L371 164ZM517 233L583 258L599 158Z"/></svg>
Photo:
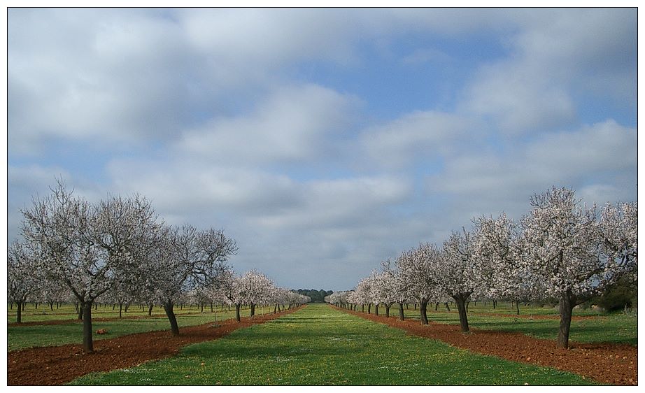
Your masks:
<svg viewBox="0 0 645 393"><path fill-rule="evenodd" d="M401 321L395 317L338 309L390 327L404 329L415 336L434 338L483 355L569 371L599 383L638 385L638 350L632 345L569 342L569 350L560 350L556 348L553 340L534 338L517 332L471 328L470 334L463 334L459 325L436 322L422 325L418 320Z"/></svg>

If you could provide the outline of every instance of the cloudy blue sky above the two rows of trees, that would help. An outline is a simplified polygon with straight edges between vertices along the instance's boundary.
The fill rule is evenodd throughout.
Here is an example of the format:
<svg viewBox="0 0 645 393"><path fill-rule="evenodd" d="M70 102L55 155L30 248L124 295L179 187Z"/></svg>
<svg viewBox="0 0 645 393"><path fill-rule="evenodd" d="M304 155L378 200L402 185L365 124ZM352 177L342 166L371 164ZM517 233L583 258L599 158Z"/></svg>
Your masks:
<svg viewBox="0 0 645 393"><path fill-rule="evenodd" d="M8 10L8 238L62 177L349 289L532 194L637 199L637 11Z"/></svg>

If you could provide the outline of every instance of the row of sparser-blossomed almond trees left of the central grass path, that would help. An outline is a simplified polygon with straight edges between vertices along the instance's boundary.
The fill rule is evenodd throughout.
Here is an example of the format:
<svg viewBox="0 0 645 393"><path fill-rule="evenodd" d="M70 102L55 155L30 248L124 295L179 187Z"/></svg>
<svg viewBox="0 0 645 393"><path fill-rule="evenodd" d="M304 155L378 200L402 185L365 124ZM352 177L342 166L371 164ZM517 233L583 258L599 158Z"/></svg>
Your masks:
<svg viewBox="0 0 645 393"><path fill-rule="evenodd" d="M83 316L85 352L93 350L92 305L101 297L162 304L173 334L179 334L173 308L188 292L238 311L241 304L253 310L258 303L306 300L257 271L235 276L227 259L236 243L222 229L166 224L139 195L90 203L59 180L21 212L22 241L8 248L8 300L17 305L17 320L29 296L47 292L53 300L69 291Z"/></svg>

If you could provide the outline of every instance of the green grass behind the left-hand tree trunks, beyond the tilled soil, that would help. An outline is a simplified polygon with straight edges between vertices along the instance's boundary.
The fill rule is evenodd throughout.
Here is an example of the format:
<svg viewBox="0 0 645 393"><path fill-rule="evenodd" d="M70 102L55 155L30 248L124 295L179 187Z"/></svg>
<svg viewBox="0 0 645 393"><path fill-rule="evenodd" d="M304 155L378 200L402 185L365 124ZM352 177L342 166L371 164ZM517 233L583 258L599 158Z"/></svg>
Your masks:
<svg viewBox="0 0 645 393"><path fill-rule="evenodd" d="M256 308L255 313L268 313L273 311L273 308ZM205 324L215 320L215 314L208 312L204 308L204 313L196 313L199 309L192 309L192 313L178 313L177 322L179 327L194 326L197 324ZM242 317L248 317L250 310L241 310ZM146 313L146 315L148 315ZM96 315L93 314L92 317ZM118 317L118 315L117 315ZM218 312L217 319L229 319L235 317L235 310ZM123 319L113 321L92 321L92 330L107 329L108 334L99 336L94 334L94 340L103 338L115 338L124 336L125 334L141 333L144 331L154 330L169 330L170 322L168 318L146 317L141 319ZM20 350L31 347L44 347L51 345L64 345L72 343L83 343L83 322L74 321L65 324L50 324L50 325L30 325L30 326L17 326L11 325L7 327L7 346L9 351Z"/></svg>

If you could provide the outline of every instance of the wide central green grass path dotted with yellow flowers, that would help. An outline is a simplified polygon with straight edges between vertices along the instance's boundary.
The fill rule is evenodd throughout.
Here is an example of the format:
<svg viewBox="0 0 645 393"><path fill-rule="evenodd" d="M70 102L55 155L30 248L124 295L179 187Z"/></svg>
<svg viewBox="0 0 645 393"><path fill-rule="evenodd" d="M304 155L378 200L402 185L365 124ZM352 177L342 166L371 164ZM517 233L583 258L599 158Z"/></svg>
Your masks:
<svg viewBox="0 0 645 393"><path fill-rule="evenodd" d="M325 305L72 385L588 385L572 373L476 355Z"/></svg>

